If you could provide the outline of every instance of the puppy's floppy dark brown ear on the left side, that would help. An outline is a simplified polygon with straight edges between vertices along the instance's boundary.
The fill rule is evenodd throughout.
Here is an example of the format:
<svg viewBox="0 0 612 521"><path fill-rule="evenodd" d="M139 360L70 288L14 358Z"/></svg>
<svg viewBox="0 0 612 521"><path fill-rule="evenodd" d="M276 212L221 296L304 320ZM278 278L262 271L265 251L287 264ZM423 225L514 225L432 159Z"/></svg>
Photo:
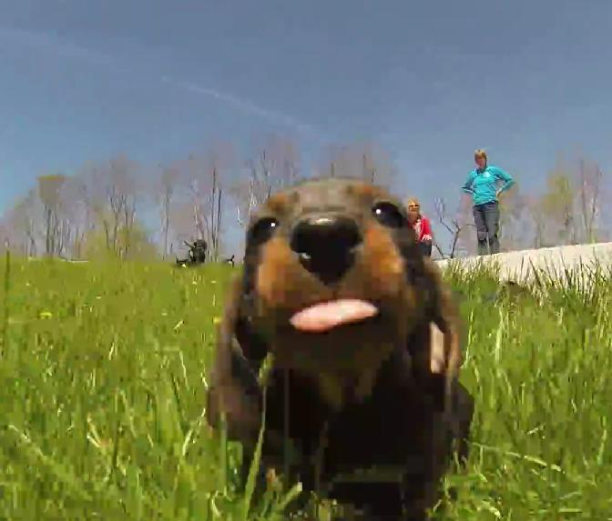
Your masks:
<svg viewBox="0 0 612 521"><path fill-rule="evenodd" d="M267 348L250 326L244 282L244 277L233 281L219 325L207 419L210 426L217 427L221 413L225 413L228 436L250 444L260 427L261 390L257 375Z"/></svg>

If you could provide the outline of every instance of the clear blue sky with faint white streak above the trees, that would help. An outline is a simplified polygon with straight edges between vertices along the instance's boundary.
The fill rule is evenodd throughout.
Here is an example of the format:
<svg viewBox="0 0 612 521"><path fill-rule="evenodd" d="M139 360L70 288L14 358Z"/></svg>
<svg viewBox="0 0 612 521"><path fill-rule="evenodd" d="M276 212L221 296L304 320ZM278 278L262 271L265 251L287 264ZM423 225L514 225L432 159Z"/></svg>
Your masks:
<svg viewBox="0 0 612 521"><path fill-rule="evenodd" d="M544 184L612 170L610 0L0 0L0 211L48 171L270 132L373 140L398 189L458 197L475 147Z"/></svg>

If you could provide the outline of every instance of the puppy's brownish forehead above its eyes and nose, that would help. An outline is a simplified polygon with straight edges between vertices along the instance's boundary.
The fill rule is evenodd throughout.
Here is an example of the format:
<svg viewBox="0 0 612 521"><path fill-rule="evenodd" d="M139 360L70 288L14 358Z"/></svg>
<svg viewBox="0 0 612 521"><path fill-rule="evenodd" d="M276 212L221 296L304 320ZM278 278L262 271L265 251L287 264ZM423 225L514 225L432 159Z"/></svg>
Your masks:
<svg viewBox="0 0 612 521"><path fill-rule="evenodd" d="M358 179L312 179L272 195L254 215L270 215L291 222L301 216L342 213L360 218L370 215L377 202L389 202L403 212L399 199L382 187Z"/></svg>

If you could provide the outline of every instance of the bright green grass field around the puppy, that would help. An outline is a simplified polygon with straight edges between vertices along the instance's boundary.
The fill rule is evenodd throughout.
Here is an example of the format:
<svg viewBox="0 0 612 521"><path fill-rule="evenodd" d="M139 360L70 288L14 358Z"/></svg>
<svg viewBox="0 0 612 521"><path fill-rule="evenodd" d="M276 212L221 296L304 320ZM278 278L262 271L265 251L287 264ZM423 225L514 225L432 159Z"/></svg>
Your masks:
<svg viewBox="0 0 612 521"><path fill-rule="evenodd" d="M283 518L286 492L247 508L203 418L229 267L14 259L8 296L0 274L0 519ZM450 278L477 409L444 519L612 519L610 281L492 300Z"/></svg>

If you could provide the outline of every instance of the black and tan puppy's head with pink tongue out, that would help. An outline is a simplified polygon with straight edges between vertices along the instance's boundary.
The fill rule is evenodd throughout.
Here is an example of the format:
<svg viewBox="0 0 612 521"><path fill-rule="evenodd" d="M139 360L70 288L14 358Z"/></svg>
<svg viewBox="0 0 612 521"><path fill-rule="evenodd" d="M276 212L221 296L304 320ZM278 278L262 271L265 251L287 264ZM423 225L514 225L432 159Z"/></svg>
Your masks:
<svg viewBox="0 0 612 521"><path fill-rule="evenodd" d="M316 379L330 402L342 402L348 382L367 394L391 351L440 315L430 263L402 203L382 187L294 185L250 219L232 331L247 358L271 351L278 366Z"/></svg>

